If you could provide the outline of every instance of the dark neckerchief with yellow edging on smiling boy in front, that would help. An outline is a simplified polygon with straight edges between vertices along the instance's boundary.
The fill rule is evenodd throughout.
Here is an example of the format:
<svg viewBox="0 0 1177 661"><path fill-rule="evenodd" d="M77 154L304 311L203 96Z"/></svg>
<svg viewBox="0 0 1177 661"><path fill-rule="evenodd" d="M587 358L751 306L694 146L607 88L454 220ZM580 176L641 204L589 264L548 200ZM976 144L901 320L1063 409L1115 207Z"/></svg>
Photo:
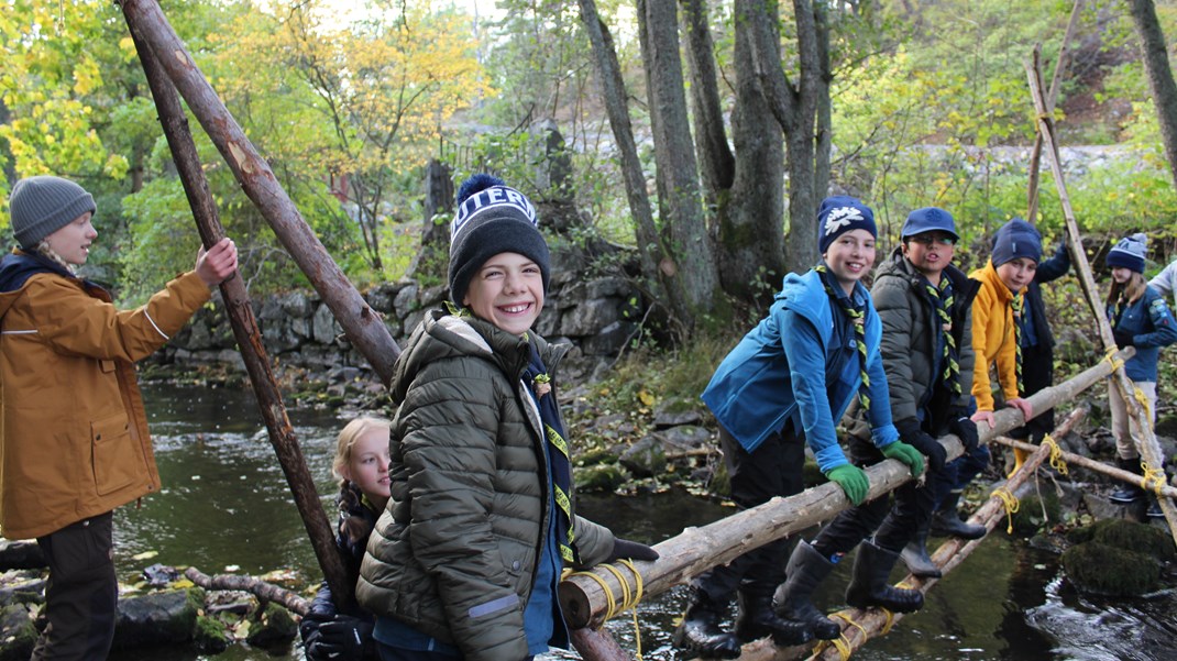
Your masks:
<svg viewBox="0 0 1177 661"><path fill-rule="evenodd" d="M557 509L556 541L560 547L560 557L565 562L578 563L572 546L576 535L572 529L572 462L568 460L568 443L564 440L564 425L556 408L556 396L551 394L552 379L547 375L547 368L544 367L536 345L528 342L528 346L531 346L531 361L523 373L523 379L536 399L539 420L544 425L544 435L547 436L547 461L551 465Z"/></svg>

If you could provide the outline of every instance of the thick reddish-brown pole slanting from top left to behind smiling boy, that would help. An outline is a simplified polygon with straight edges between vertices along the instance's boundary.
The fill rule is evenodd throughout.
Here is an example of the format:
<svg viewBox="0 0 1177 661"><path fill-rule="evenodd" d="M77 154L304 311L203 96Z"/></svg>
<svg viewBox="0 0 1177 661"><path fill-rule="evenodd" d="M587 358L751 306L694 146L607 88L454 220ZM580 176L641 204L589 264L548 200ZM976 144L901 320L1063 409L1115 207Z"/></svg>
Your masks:
<svg viewBox="0 0 1177 661"><path fill-rule="evenodd" d="M282 189L266 159L246 138L228 113L204 73L197 68L187 48L167 22L155 0L122 0L122 14L157 54L157 61L179 91L200 126L220 151L238 183L273 228L278 240L306 274L315 292L331 308L347 339L364 354L372 369L387 385L392 366L400 354L388 328L307 226L294 202Z"/></svg>

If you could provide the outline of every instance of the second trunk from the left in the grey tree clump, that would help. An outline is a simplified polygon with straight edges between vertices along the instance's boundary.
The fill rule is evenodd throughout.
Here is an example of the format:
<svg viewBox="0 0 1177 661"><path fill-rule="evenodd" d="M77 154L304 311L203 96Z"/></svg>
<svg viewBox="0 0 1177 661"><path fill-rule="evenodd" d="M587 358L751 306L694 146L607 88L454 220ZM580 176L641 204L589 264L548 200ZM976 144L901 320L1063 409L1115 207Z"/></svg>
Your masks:
<svg viewBox="0 0 1177 661"><path fill-rule="evenodd" d="M638 0L637 6L658 163L663 242L674 259L687 306L694 314L706 314L719 305L722 296L683 92L678 7L674 0Z"/></svg>

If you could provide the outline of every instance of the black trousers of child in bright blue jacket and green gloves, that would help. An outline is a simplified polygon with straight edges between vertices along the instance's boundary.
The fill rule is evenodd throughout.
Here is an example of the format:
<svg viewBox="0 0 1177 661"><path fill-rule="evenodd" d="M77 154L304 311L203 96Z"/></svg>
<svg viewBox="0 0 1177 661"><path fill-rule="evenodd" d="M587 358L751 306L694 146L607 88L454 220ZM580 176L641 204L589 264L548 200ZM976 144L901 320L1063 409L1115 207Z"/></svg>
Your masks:
<svg viewBox="0 0 1177 661"><path fill-rule="evenodd" d="M776 496L802 493L805 441L792 433L792 425L786 423L780 433L770 434L751 453L723 427L719 428L719 442L731 480L732 501L740 509L763 505ZM790 543L790 540L769 542L700 574L692 585L706 592L716 603L727 603L737 589L771 595L785 581Z"/></svg>

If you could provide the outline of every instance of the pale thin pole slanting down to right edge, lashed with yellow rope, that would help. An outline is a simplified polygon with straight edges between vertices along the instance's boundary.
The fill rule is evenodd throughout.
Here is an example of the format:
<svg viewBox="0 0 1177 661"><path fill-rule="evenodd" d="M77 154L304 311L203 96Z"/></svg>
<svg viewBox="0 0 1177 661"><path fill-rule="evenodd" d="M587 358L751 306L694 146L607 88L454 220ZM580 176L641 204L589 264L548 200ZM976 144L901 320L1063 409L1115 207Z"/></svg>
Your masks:
<svg viewBox="0 0 1177 661"><path fill-rule="evenodd" d="M1058 200L1063 205L1063 216L1066 219L1068 229L1068 241L1071 248L1071 261L1076 266L1076 273L1079 275L1079 282L1083 285L1083 292L1088 296L1088 303L1091 306L1091 313L1096 318L1096 323L1099 326L1099 339L1103 341L1104 349L1108 352L1116 350L1116 339L1111 333L1111 325L1108 322L1108 318L1104 315L1103 302L1099 300L1099 292L1096 288L1095 278L1091 275L1091 265L1088 263L1088 255L1083 251L1083 243L1079 240L1079 225L1075 220L1075 211L1071 208L1071 199L1066 193L1066 181L1063 178L1063 162L1058 155L1058 143L1055 141L1055 128L1053 122L1045 113L1046 100L1042 91L1042 85L1038 81L1033 67L1030 62L1025 62L1026 75L1030 80L1030 94L1033 96L1035 109L1038 114L1038 133L1042 135L1043 146L1046 148L1046 156L1050 160L1050 169L1055 175L1055 187L1058 188ZM1129 415L1136 422L1137 430L1142 439L1139 447L1137 448L1141 456L1148 462L1149 467L1162 470L1164 467L1164 454L1161 452L1161 445L1157 442L1156 432L1152 429L1152 421L1149 419L1148 412L1136 399L1136 383L1128 378L1128 373L1124 372L1123 362L1117 366L1116 373L1112 378L1113 387L1119 388L1119 394L1124 399L1124 403L1128 407ZM1162 481L1165 480L1162 478ZM1165 515L1165 521L1169 523L1169 532L1172 534L1173 541L1177 542L1177 508L1173 507L1173 502L1168 498L1158 498L1157 502L1161 505L1161 510Z"/></svg>

